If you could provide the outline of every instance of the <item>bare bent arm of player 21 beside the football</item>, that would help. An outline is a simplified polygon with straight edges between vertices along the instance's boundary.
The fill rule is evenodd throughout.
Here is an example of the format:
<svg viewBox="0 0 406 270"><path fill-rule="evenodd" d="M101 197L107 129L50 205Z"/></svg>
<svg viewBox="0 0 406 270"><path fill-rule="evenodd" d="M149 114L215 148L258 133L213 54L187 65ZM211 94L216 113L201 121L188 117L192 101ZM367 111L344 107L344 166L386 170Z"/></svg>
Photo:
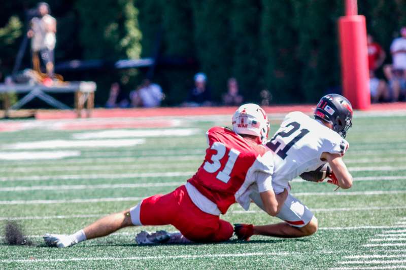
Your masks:
<svg viewBox="0 0 406 270"><path fill-rule="evenodd" d="M328 162L337 179L337 184L341 188L347 189L352 186L352 176L348 171L347 166L344 164L341 154L323 152L321 158Z"/></svg>

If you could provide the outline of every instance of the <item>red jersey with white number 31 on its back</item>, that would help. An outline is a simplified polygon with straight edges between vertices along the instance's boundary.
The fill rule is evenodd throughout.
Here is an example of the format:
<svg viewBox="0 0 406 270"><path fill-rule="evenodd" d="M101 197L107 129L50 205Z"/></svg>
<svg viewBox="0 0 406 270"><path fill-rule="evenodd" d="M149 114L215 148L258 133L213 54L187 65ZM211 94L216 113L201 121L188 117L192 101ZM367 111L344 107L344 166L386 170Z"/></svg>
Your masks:
<svg viewBox="0 0 406 270"><path fill-rule="evenodd" d="M255 172L272 175L272 151L223 127L211 128L207 136L209 148L205 161L188 183L225 214L256 182Z"/></svg>

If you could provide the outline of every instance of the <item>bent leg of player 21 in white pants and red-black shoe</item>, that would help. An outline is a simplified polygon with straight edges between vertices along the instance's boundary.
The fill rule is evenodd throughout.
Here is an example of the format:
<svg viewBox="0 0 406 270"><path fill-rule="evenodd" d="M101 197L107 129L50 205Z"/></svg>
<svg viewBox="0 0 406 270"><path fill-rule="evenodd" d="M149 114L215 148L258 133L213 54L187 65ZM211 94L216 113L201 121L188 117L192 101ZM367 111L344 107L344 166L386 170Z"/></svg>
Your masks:
<svg viewBox="0 0 406 270"><path fill-rule="evenodd" d="M255 204L263 209L262 200L257 192L253 192L250 197ZM297 238L310 236L316 233L318 228L318 222L313 213L290 194L277 217L285 222L262 226L236 224L235 234L239 239L244 240L248 240L252 235Z"/></svg>

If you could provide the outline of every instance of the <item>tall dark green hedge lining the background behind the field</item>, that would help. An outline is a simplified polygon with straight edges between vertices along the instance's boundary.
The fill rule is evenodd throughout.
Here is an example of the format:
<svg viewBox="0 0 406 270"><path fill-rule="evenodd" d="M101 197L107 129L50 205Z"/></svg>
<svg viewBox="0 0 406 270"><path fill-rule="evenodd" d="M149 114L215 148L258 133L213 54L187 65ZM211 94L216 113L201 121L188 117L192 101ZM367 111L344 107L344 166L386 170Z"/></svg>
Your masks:
<svg viewBox="0 0 406 270"><path fill-rule="evenodd" d="M363 0L359 12L387 51L401 25L406 2ZM24 7L37 1L7 2L0 11L0 59L10 73L25 31ZM342 0L50 0L58 19L56 60L151 57L161 33L160 55L194 57L196 68L159 68L154 81L166 93L165 104L181 103L193 74L206 72L214 98L221 100L234 76L246 101L259 101L267 89L272 103L315 102L340 86L337 19ZM11 21L10 17L14 16ZM25 57L25 66L29 58ZM84 73L98 84L97 104L107 99L112 81L129 91L146 75L138 70Z"/></svg>

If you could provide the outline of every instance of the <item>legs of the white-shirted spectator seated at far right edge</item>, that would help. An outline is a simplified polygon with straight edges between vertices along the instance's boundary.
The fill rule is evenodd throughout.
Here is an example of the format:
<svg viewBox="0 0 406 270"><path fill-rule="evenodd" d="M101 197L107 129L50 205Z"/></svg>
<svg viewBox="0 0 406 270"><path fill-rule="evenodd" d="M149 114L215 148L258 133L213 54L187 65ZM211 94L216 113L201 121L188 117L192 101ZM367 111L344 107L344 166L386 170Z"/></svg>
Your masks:
<svg viewBox="0 0 406 270"><path fill-rule="evenodd" d="M404 100L406 95L404 70L395 69L392 65L385 65L384 74L389 83L388 101Z"/></svg>

